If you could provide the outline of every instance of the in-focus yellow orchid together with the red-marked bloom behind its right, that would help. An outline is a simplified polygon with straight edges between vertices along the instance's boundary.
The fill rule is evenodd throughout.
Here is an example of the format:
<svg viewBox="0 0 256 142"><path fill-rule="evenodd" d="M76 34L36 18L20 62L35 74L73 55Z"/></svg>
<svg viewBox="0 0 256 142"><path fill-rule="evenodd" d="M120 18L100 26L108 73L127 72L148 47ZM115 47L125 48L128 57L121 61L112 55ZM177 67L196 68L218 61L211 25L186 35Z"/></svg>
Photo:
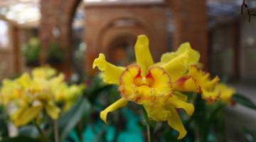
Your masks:
<svg viewBox="0 0 256 142"><path fill-rule="evenodd" d="M210 77L199 63L200 54L189 43L183 43L176 52L165 53L160 62L154 62L146 35L139 35L135 44L137 63L127 67L117 67L105 60L100 53L94 60L104 73L103 81L118 84L121 99L101 111L100 117L107 122L107 114L127 102L142 104L149 118L154 121L167 121L169 126L179 132L178 139L186 136L186 129L177 109L183 109L191 116L193 104L187 102L182 92L197 92L209 104L216 99L229 102L233 89L218 84L218 77ZM228 91L227 91L228 89Z"/></svg>

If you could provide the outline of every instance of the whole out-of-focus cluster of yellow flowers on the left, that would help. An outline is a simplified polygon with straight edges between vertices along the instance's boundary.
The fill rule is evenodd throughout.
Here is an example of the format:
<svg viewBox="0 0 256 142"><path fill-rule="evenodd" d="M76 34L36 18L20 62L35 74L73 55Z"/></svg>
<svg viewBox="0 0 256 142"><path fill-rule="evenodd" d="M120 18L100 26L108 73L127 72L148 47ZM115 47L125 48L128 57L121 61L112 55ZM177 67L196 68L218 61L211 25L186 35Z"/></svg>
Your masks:
<svg viewBox="0 0 256 142"><path fill-rule="evenodd" d="M60 111L68 110L83 85L68 86L64 75L57 75L50 67L38 67L32 74L23 73L15 80L4 80L0 90L0 104L9 109L11 120L16 126L39 120L46 112L52 119L58 119ZM58 107L57 104L63 104Z"/></svg>

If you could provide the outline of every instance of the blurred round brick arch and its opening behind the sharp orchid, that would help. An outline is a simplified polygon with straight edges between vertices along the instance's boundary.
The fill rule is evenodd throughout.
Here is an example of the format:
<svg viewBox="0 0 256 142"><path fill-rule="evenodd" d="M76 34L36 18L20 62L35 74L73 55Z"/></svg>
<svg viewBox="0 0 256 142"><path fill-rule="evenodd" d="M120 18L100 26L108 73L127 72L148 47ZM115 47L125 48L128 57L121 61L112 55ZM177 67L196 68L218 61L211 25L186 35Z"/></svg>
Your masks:
<svg viewBox="0 0 256 142"><path fill-rule="evenodd" d="M137 35L151 35L147 27L135 18L117 18L102 28L100 33L100 52L115 65L128 65L135 60L134 44Z"/></svg>

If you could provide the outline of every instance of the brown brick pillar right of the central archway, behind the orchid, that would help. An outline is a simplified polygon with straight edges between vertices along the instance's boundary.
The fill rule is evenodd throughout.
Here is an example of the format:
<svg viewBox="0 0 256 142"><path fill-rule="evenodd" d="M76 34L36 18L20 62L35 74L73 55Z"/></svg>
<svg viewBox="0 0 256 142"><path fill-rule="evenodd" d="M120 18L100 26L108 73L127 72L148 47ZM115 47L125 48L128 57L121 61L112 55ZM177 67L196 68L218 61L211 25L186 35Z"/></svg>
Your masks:
<svg viewBox="0 0 256 142"><path fill-rule="evenodd" d="M208 31L206 0L166 0L174 21L174 47L190 42L201 53L201 62L208 70Z"/></svg>

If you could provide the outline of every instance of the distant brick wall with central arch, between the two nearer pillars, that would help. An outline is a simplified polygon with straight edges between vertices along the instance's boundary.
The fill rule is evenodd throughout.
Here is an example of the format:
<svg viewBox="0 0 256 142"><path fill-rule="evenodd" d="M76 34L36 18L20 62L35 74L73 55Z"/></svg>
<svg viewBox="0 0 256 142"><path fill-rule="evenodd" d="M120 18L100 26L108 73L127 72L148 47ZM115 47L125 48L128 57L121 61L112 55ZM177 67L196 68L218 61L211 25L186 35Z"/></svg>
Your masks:
<svg viewBox="0 0 256 142"><path fill-rule="evenodd" d="M110 5L85 6L85 42L87 43L87 71L92 67L92 56L107 53L110 45L118 36L139 34L149 36L151 52L154 59L159 60L167 50L166 6L159 5ZM115 26L115 23L120 24ZM129 25L129 21L134 22ZM110 58L111 53L107 54Z"/></svg>

